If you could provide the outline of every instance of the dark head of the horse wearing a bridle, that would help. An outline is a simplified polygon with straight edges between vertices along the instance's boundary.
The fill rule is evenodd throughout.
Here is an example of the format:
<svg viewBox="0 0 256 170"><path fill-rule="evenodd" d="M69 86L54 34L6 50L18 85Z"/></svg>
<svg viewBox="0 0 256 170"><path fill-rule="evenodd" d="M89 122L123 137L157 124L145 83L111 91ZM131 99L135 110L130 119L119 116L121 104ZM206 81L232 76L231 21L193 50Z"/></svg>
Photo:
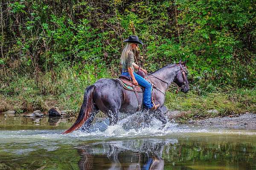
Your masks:
<svg viewBox="0 0 256 170"><path fill-rule="evenodd" d="M177 75L173 81L181 88L181 91L186 93L189 91L186 62L180 62L178 66L180 67L180 70L177 71Z"/></svg>

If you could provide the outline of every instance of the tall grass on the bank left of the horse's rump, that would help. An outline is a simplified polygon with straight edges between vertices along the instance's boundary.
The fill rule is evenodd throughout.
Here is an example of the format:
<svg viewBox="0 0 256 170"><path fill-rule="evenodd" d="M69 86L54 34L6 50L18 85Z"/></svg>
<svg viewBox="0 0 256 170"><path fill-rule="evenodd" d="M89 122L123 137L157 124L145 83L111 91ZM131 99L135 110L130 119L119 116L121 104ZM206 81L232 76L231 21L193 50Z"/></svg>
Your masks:
<svg viewBox="0 0 256 170"><path fill-rule="evenodd" d="M39 72L36 77L17 76L0 90L0 112L14 109L17 113L36 109L47 111L53 106L77 112L82 103L84 89L101 77L110 77L106 70L97 77L94 69L77 72L75 67L64 67Z"/></svg>

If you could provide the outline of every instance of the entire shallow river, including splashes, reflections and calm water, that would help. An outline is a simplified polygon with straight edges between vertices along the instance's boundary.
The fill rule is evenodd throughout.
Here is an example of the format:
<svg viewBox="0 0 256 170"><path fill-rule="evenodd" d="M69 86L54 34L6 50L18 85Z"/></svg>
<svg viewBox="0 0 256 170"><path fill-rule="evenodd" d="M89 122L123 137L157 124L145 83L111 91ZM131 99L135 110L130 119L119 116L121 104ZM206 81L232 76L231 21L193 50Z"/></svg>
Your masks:
<svg viewBox="0 0 256 170"><path fill-rule="evenodd" d="M62 135L74 119L0 116L0 170L256 170L256 130L136 119Z"/></svg>

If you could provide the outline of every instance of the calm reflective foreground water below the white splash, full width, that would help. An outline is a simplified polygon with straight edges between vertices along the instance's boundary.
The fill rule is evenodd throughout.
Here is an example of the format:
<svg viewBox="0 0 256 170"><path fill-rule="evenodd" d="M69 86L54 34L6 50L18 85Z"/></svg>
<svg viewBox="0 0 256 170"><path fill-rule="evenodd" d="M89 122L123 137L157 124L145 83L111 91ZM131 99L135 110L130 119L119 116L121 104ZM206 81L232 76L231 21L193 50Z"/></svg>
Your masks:
<svg viewBox="0 0 256 170"><path fill-rule="evenodd" d="M26 133L22 132L20 136ZM40 133L38 131L28 139L0 139L0 169L256 169L256 136L174 134L159 139L106 139L99 142L80 137L59 139L50 130L52 134L48 136Z"/></svg>

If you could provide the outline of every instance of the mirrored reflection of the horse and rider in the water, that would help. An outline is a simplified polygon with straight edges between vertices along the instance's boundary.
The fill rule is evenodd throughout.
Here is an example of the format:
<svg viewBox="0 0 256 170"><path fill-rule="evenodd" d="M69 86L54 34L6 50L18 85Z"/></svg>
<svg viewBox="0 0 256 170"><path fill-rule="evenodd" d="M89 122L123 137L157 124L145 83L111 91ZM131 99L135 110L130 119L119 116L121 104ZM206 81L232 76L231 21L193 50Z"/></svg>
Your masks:
<svg viewBox="0 0 256 170"><path fill-rule="evenodd" d="M166 144L174 144L177 139L169 140L127 140L97 142L77 147L81 160L80 170L163 170L163 149ZM109 165L106 166L106 165ZM107 168L106 168L107 167Z"/></svg>

